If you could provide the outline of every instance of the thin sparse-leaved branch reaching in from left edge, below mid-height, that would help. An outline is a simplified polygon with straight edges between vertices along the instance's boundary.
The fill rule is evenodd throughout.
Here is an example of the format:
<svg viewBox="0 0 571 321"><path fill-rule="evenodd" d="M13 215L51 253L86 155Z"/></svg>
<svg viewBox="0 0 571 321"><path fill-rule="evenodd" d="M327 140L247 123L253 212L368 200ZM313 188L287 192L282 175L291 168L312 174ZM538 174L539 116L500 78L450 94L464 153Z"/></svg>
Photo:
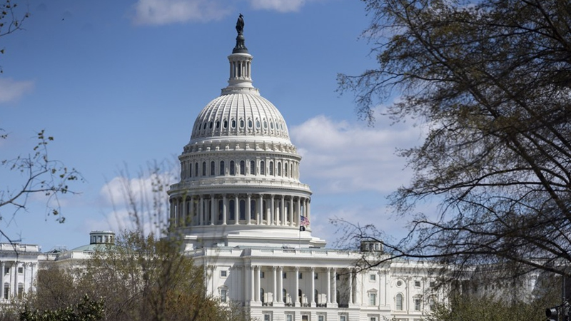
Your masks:
<svg viewBox="0 0 571 321"><path fill-rule="evenodd" d="M0 129L0 131L2 131ZM0 140L8 135L2 133ZM48 144L54 141L52 136L46 136L44 130L37 133L37 143L32 153L27 156L16 156L11 159L0 159L1 167L19 175L21 183L13 188L6 186L0 189L0 220L11 220L21 210L26 210L31 195L46 196L46 215L53 215L59 223L64 223L61 215L59 197L66 193L75 193L69 184L83 180L75 168L68 168L61 161L51 159ZM0 234L9 242L10 235L0 229Z"/></svg>

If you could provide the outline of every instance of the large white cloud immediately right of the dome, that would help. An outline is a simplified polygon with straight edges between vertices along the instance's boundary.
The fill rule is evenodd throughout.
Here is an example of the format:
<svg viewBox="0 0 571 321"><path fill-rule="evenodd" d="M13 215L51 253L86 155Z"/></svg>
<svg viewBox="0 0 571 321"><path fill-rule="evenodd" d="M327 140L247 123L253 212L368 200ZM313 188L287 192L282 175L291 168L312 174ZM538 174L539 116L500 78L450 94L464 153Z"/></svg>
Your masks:
<svg viewBox="0 0 571 321"><path fill-rule="evenodd" d="M421 137L408 123L367 127L323 115L294 126L290 134L303 156L302 180L310 180L318 193L392 192L412 175L396 148L415 146Z"/></svg>

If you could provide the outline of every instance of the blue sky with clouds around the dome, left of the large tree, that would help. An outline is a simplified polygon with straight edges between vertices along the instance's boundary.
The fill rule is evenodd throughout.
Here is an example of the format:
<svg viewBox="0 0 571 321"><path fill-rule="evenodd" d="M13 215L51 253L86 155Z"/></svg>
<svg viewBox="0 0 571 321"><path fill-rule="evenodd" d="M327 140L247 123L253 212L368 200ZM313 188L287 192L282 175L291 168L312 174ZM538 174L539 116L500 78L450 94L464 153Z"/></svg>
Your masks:
<svg viewBox="0 0 571 321"><path fill-rule="evenodd" d="M410 123L358 121L353 97L335 92L337 73L375 66L359 40L368 25L362 1L139 0L19 1L24 30L0 37L0 158L27 153L46 130L52 158L79 170L81 193L63 198L63 225L45 201L0 228L42 250L89 243L90 230L116 229L107 191L123 168L173 161L198 112L227 85L236 18L244 15L253 85L283 114L303 156L313 234L331 245L330 218L375 223L400 235L385 196L410 179L395 148L421 137ZM379 108L382 108L380 106ZM4 177L4 178L2 178ZM0 188L21 180L0 170ZM111 187L110 187L111 186Z"/></svg>

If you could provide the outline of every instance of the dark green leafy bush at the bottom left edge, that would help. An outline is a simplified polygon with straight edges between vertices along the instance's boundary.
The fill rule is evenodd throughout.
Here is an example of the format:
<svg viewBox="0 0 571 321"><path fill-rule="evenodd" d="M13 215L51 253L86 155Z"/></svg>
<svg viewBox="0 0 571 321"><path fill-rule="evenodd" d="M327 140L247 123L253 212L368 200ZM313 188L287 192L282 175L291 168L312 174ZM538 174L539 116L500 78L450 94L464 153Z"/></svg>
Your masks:
<svg viewBox="0 0 571 321"><path fill-rule="evenodd" d="M79 303L56 310L29 310L20 312L20 321L98 321L103 320L103 300L92 300L85 295Z"/></svg>

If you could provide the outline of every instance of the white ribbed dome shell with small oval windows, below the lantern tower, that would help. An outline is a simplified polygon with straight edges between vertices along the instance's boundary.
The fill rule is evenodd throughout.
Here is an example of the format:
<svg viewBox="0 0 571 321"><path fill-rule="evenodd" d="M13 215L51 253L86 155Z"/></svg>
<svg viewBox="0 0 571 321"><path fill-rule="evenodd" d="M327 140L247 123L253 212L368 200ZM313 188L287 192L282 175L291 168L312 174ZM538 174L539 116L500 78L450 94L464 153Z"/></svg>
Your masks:
<svg viewBox="0 0 571 321"><path fill-rule="evenodd" d="M191 143L228 136L258 136L290 141L276 106L257 93L222 95L203 108L194 122Z"/></svg>

